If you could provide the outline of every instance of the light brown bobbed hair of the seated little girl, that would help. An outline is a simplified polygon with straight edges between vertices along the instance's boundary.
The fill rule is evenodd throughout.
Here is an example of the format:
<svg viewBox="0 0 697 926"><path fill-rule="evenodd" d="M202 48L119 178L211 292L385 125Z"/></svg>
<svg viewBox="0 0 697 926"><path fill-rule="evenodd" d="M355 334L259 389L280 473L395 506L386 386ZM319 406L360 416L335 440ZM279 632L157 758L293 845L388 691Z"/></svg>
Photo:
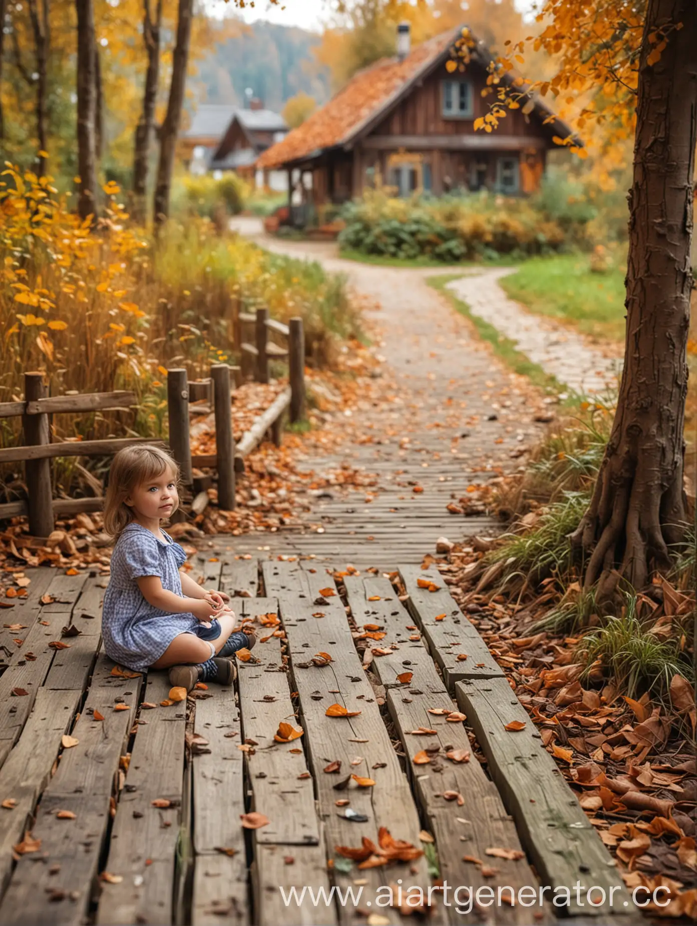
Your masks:
<svg viewBox="0 0 697 926"><path fill-rule="evenodd" d="M175 482L179 482L179 467L161 447L133 444L118 451L109 469L104 506L104 528L115 540L134 519L133 509L126 505L133 489L161 476L166 469L170 469ZM176 510L172 509L171 514Z"/></svg>

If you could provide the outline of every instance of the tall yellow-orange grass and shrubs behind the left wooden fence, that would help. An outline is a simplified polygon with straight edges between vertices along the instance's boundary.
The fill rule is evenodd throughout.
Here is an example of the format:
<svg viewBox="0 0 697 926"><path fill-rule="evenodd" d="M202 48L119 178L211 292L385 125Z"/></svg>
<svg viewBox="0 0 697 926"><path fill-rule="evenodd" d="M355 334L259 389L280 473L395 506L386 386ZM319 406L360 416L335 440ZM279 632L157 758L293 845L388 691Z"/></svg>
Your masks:
<svg viewBox="0 0 697 926"><path fill-rule="evenodd" d="M129 389L127 413L56 417L60 436L153 436L165 427L170 365L190 378L232 352L232 308L268 305L302 315L310 362L331 357L358 331L344 282L318 265L268 255L205 219L169 223L157 245L133 225L116 183L91 227L50 178L6 165L0 185L0 402L20 398L23 374L41 369L51 394ZM0 419L0 441L19 443L20 419Z"/></svg>

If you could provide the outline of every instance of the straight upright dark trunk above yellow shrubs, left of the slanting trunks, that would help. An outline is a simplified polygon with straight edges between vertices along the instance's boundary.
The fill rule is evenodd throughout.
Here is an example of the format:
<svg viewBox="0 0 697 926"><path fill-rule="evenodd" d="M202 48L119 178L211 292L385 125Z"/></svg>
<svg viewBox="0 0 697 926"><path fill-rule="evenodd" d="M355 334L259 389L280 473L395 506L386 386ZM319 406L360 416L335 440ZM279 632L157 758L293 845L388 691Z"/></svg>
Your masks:
<svg viewBox="0 0 697 926"><path fill-rule="evenodd" d="M81 219L97 214L94 144L94 11L92 0L75 0L78 15L78 169Z"/></svg>

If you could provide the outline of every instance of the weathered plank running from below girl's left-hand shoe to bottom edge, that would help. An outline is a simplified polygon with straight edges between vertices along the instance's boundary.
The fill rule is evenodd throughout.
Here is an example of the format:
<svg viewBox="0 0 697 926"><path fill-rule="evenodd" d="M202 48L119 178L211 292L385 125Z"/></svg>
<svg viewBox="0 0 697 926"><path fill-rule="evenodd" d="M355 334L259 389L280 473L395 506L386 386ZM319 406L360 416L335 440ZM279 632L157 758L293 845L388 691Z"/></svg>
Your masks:
<svg viewBox="0 0 697 926"><path fill-rule="evenodd" d="M106 860L106 870L123 878L104 883L97 923L165 923L172 920L175 856L180 836L186 702L159 707L167 698L164 672L148 674ZM164 799L170 807L154 807ZM204 812L215 812L204 808Z"/></svg>

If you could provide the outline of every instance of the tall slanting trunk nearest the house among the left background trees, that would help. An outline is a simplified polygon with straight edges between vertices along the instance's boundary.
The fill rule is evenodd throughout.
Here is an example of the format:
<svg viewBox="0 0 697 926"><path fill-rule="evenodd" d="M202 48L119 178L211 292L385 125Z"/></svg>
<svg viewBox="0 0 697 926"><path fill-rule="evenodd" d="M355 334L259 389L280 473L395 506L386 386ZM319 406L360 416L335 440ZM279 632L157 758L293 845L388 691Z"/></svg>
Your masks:
<svg viewBox="0 0 697 926"><path fill-rule="evenodd" d="M189 43L192 34L193 0L179 0L177 44L172 62L172 82L169 85L167 115L160 130L160 156L157 162L154 216L156 225L168 218L169 190L174 167L174 152L184 103L184 85L189 60Z"/></svg>

